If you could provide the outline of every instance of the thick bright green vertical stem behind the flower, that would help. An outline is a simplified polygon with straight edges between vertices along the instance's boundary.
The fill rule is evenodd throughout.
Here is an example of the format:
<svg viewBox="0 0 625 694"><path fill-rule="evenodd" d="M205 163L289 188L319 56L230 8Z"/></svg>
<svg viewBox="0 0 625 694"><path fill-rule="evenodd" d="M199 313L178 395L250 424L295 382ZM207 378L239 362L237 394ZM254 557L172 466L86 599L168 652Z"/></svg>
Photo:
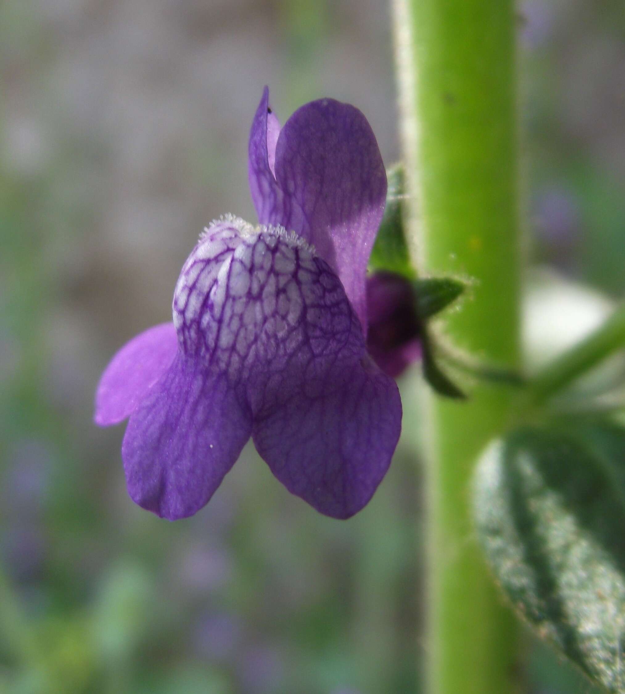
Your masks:
<svg viewBox="0 0 625 694"><path fill-rule="evenodd" d="M513 0L395 0L397 40L412 32L400 89L410 199L420 214L420 271L473 282L472 301L441 318L451 343L481 362L520 367L515 10ZM401 17L404 24L401 24ZM398 55L402 50L398 49ZM408 68L406 68L406 65ZM416 78L415 78L416 76ZM413 154L416 151L416 154ZM415 235L416 230L412 230ZM427 394L431 694L513 689L517 627L472 532L477 455L511 416L514 389L481 382L463 402Z"/></svg>

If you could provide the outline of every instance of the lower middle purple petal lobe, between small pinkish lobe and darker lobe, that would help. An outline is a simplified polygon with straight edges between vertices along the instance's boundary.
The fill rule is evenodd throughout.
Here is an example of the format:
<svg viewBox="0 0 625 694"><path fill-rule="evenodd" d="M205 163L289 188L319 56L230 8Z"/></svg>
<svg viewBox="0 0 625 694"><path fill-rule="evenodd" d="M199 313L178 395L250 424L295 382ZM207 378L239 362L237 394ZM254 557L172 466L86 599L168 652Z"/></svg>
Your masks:
<svg viewBox="0 0 625 694"><path fill-rule="evenodd" d="M132 414L121 455L132 500L158 516L191 516L211 498L250 437L228 378L182 354Z"/></svg>

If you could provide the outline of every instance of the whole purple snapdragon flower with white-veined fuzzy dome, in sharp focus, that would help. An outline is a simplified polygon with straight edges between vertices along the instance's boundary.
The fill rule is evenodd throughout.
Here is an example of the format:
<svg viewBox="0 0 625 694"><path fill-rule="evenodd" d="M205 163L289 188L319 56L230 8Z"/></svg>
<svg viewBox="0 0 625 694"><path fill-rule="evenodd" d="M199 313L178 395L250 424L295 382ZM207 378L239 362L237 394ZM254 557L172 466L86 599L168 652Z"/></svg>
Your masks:
<svg viewBox="0 0 625 694"><path fill-rule="evenodd" d="M173 323L105 370L95 421L130 416L122 457L140 506L202 508L250 436L289 491L348 518L400 434L395 382L366 350L366 266L386 173L365 117L313 101L280 128L264 91L248 170L260 226L214 221L182 267Z"/></svg>

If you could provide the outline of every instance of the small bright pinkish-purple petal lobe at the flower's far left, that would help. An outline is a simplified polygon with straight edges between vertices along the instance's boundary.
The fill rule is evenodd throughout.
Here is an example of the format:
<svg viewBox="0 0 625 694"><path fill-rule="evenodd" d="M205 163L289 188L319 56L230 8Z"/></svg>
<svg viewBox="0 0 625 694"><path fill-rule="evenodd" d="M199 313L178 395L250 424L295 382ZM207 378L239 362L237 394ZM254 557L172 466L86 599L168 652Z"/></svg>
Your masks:
<svg viewBox="0 0 625 694"><path fill-rule="evenodd" d="M96 391L96 424L105 427L130 416L169 368L177 351L173 323L155 325L124 345L100 379Z"/></svg>

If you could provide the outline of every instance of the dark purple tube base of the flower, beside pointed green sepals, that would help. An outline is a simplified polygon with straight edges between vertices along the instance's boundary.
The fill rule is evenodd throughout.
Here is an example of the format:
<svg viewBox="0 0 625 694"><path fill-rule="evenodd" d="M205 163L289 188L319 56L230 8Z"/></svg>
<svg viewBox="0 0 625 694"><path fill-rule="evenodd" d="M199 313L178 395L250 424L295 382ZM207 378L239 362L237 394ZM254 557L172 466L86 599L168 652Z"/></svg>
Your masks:
<svg viewBox="0 0 625 694"><path fill-rule="evenodd" d="M420 323L408 280L379 272L367 280L367 350L384 373L397 378L419 359Z"/></svg>

